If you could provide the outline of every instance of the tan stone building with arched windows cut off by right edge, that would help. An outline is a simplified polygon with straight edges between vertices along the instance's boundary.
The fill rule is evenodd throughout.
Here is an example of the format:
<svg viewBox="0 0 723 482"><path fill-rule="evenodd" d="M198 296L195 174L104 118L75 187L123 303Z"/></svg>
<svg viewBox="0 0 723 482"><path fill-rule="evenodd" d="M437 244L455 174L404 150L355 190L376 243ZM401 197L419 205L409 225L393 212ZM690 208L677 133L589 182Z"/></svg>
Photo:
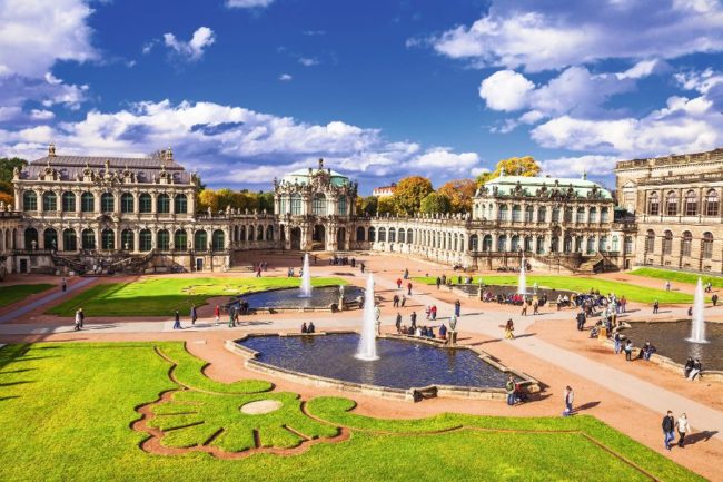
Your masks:
<svg viewBox="0 0 723 482"><path fill-rule="evenodd" d="M723 273L723 149L617 163L638 265Z"/></svg>

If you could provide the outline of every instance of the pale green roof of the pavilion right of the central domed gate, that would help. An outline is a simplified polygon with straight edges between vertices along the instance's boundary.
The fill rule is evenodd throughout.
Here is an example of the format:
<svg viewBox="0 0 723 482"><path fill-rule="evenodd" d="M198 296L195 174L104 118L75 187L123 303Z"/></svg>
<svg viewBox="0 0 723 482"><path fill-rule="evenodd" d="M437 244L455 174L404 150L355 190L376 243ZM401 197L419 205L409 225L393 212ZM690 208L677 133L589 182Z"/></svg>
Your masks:
<svg viewBox="0 0 723 482"><path fill-rule="evenodd" d="M514 195L518 189L517 186L522 188L522 194L527 196L534 196L538 189L543 188L559 190L568 190L572 188L576 197L586 198L595 194L600 199L613 198L607 189L585 178L499 176L485 183L486 188L491 190L496 188L496 193L503 196Z"/></svg>

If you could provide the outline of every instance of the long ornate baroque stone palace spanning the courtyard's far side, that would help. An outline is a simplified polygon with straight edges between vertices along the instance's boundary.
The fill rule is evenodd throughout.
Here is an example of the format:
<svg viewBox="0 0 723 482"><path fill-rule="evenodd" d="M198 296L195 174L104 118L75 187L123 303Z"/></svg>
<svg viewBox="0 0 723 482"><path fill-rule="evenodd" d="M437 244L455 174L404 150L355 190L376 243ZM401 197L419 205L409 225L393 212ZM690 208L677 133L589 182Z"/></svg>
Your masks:
<svg viewBox="0 0 723 482"><path fill-rule="evenodd" d="M524 256L583 273L723 272L723 150L620 161L616 175L616 198L585 176L503 173L477 190L471 213L365 217L357 184L319 159L274 179L274 213L211 213L196 209L198 179L170 149L115 158L50 146L14 173L14 208L0 206L0 268L227 270L249 250L374 250L464 268L516 268Z"/></svg>

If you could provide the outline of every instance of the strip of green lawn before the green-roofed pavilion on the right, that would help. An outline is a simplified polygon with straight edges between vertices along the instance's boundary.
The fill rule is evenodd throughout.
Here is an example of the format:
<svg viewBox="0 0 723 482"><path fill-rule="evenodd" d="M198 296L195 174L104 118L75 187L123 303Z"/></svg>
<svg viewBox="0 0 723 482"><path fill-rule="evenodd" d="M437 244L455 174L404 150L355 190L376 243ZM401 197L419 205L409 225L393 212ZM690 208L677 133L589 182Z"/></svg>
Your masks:
<svg viewBox="0 0 723 482"><path fill-rule="evenodd" d="M474 277L474 283L477 283L477 276ZM434 276L415 277L419 283L427 285L436 284ZM456 278L453 276L453 279ZM486 275L482 279L487 285L503 285L515 286L517 285L517 275ZM693 295L679 292L666 292L665 289L652 289L644 286L636 286L630 283L613 282L603 278L588 278L578 276L527 276L527 287L529 288L534 283L539 287L567 289L571 292L590 292L590 289L600 289L602 294L615 293L617 296L625 296L631 302L638 303L653 303L657 299L660 303L692 303Z"/></svg>

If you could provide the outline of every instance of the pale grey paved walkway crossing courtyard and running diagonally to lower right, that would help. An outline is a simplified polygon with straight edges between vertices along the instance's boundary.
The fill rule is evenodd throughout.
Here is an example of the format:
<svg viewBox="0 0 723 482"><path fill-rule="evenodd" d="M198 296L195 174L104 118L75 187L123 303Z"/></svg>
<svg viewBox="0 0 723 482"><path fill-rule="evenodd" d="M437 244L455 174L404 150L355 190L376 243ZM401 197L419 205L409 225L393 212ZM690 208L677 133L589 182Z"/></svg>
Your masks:
<svg viewBox="0 0 723 482"><path fill-rule="evenodd" d="M82 284L89 283L89 281L83 281L73 286L79 288ZM382 277L376 279L377 287L379 289L396 289L396 285L386 281ZM423 291L434 289L430 286L424 286ZM31 306L23 307L18 312L13 313L12 317L21 316L23 313L27 313L33 309L37 306L40 306L44 303L48 303L52 299L56 299L63 294L58 292L51 295L48 295L41 299L38 299ZM420 294L413 292L412 299L417 303L427 305L435 304L439 309L440 316L437 318L437 324L442 321L448 318L448 315L454 312L454 307L449 303L445 303L440 299L435 298L432 294ZM24 309L24 311L23 311ZM567 314L571 318L571 326L573 324L574 312L563 312ZM417 312L418 324L424 325L426 323L424 318L424 308ZM337 328L353 328L358 329L360 325L361 312L359 312L359 318L338 318L338 319L324 319L320 318L316 325L317 331L323 331L328 327ZM463 309L463 316L458 321L458 329L462 332L472 332L482 334L485 336L491 336L494 338L502 338L503 328L501 325L504 325L506 319L509 317L509 313L467 313L465 314ZM559 319L561 313L547 313L537 316L514 316L515 318L515 331L518 335L524 334L527 328L535 322L545 321L545 319ZM0 322L6 319L0 318ZM385 326L394 326L395 316L384 316L382 319ZM405 319L405 323L408 323L408 319ZM174 322L129 322L129 323L107 323L107 324L86 324L83 331L92 333L158 333L158 332L174 332L172 329ZM279 329L279 331L298 331L299 322L296 319L274 319L265 321L255 317L252 321L242 321L239 324L238 328L228 328L227 324L221 323L216 326L209 319L200 319L195 326L191 326L188 322L184 323L184 332L207 332L207 331L228 331L230 333L239 333L242 331L254 329L254 327L264 328L264 329ZM49 335L58 333L69 333L72 332L72 324L65 325L49 325L43 324L3 324L0 325L0 335L21 335L21 334L33 334L33 335ZM652 383L648 383L640 377L630 375L627 373L621 372L620 370L612 368L602 363L590 360L585 356L578 355L574 352L567 351L559 346L547 343L534 335L521 336L513 341L502 340L501 343L509 343L515 348L522 350L531 355L534 355L538 358L544 360L547 363L559 366L566 371L570 371L581 377L590 380L600 386L610 390L618 395L622 395L637 404L641 404L650 410L653 410L661 414L661 416L667 411L672 410L673 413L685 412L689 414L691 420L695 421L695 426L699 430L706 430L710 432L717 432L714 436L719 440L723 440L723 412L711 409L703 404L700 404L693 400L686 399L682 395L679 395L668 390L661 388ZM561 385L564 385L564 381L559 381Z"/></svg>

